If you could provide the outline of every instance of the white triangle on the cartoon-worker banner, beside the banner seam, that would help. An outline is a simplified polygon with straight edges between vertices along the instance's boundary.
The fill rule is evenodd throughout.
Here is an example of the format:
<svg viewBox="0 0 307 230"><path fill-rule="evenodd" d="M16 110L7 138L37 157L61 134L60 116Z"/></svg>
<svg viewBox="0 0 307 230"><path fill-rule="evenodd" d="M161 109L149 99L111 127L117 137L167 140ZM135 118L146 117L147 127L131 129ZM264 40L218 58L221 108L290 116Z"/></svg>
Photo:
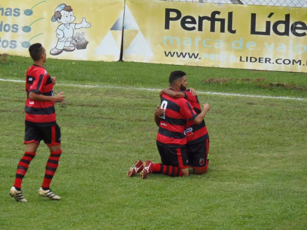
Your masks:
<svg viewBox="0 0 307 230"><path fill-rule="evenodd" d="M120 50L111 31L100 42L99 46L95 49L94 54L97 55L119 55Z"/></svg>

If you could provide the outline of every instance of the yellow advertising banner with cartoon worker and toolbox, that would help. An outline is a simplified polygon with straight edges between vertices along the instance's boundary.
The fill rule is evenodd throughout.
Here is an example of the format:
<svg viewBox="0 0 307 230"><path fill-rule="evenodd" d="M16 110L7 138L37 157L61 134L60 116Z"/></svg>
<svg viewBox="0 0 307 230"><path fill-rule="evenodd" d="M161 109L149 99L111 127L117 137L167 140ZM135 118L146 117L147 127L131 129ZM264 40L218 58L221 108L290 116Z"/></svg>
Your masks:
<svg viewBox="0 0 307 230"><path fill-rule="evenodd" d="M0 53L29 56L41 43L49 58L117 61L123 0L0 2Z"/></svg>

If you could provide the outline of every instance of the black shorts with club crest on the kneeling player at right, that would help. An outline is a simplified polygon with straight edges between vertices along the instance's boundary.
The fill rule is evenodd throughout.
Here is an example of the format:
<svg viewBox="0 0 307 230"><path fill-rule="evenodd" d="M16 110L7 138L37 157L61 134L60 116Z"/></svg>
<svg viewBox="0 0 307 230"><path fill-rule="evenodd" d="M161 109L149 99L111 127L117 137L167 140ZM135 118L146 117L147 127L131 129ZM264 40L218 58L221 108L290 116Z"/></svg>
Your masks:
<svg viewBox="0 0 307 230"><path fill-rule="evenodd" d="M209 138L196 144L187 144L190 167L203 169L208 167Z"/></svg>

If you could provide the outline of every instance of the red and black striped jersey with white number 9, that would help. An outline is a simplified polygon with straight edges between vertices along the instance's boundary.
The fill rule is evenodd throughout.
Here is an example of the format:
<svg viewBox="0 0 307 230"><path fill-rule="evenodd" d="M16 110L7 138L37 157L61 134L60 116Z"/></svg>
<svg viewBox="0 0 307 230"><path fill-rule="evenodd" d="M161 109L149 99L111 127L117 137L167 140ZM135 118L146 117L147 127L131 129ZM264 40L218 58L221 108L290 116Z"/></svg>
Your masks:
<svg viewBox="0 0 307 230"><path fill-rule="evenodd" d="M185 145L187 142L184 134L186 121L193 121L197 117L190 102L185 98L171 98L163 94L161 109L165 109L165 113L160 116L157 144L169 147Z"/></svg>

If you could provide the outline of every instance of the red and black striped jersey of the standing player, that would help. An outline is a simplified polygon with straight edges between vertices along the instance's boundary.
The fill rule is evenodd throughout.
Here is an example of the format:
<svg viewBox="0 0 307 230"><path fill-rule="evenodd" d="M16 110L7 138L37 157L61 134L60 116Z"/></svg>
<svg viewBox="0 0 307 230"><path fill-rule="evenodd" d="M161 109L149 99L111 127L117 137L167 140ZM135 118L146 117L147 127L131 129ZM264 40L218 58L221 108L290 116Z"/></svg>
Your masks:
<svg viewBox="0 0 307 230"><path fill-rule="evenodd" d="M38 65L32 65L27 71L25 82L27 100L25 102L25 123L32 126L52 126L56 122L54 102L38 102L29 99L34 92L53 96L53 84L48 72Z"/></svg>

